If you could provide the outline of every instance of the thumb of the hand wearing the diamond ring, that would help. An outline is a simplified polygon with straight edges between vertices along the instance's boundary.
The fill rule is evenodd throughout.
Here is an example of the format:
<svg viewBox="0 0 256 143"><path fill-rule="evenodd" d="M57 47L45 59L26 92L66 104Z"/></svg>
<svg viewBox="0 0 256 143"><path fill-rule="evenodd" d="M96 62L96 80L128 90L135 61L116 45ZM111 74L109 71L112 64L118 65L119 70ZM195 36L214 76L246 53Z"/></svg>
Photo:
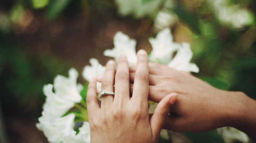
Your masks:
<svg viewBox="0 0 256 143"><path fill-rule="evenodd" d="M163 128L164 122L168 117L168 113L170 112L171 106L176 101L177 96L176 93L168 94L156 106L154 114L149 121L154 140L159 139L161 129Z"/></svg>

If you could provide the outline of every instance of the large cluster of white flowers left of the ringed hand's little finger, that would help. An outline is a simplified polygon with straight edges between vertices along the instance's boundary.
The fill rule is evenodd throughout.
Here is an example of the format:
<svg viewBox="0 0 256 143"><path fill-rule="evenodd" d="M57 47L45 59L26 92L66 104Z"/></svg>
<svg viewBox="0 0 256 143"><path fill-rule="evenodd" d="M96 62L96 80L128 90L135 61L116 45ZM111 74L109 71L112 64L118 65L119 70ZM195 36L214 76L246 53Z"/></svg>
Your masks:
<svg viewBox="0 0 256 143"><path fill-rule="evenodd" d="M36 127L43 131L48 141L51 143L89 143L90 129L88 122L84 122L81 129L87 132L79 132L76 135L74 131L75 115L68 112L74 103L79 103L82 100L80 92L83 89L81 84L77 84L78 71L74 68L69 70L69 77L58 75L54 79L54 83L47 84L43 87L43 92L46 96L45 104L43 105L42 116L38 118L39 123ZM54 90L54 92L53 92ZM70 141L68 141L70 139Z"/></svg>

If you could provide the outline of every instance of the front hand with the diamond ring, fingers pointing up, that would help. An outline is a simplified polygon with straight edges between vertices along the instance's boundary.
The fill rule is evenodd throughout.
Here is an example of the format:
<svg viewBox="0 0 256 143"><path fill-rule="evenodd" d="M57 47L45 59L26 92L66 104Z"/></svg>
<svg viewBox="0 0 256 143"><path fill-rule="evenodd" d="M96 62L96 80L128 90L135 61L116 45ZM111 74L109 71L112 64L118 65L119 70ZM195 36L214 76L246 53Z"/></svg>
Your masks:
<svg viewBox="0 0 256 143"><path fill-rule="evenodd" d="M92 143L158 142L160 130L177 99L177 94L168 93L161 101L159 100L155 114L149 120L147 61L146 52L138 51L132 97L129 93L129 67L125 56L119 57L116 74L113 60L106 65L101 89L114 91L115 83L115 96L103 96L101 107L97 101L96 80L89 83L87 108Z"/></svg>

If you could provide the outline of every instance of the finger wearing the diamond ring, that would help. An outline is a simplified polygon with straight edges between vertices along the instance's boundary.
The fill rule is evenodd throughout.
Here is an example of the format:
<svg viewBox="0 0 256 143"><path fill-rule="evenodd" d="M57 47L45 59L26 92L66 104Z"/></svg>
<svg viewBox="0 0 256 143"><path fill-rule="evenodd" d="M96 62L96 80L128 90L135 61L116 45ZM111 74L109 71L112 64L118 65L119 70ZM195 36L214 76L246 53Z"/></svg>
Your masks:
<svg viewBox="0 0 256 143"><path fill-rule="evenodd" d="M101 82L101 90L114 92L114 79L115 79L115 62L109 60L106 64L106 70ZM112 95L104 95L101 97L101 107L110 105L114 100Z"/></svg>

